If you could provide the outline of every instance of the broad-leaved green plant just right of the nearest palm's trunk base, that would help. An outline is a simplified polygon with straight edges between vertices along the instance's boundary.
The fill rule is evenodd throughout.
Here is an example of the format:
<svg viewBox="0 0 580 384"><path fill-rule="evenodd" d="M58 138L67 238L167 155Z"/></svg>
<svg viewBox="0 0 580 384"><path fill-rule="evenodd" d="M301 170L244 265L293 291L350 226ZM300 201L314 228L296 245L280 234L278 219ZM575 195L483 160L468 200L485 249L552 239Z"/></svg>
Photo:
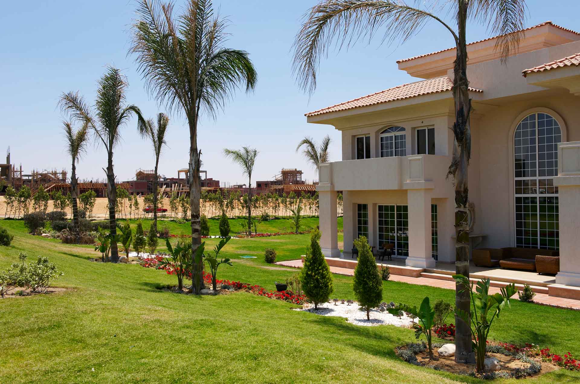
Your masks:
<svg viewBox="0 0 580 384"><path fill-rule="evenodd" d="M507 304L510 307L509 299L517 293L516 285L511 283L503 287L501 293L490 294L490 279L483 279L477 282L475 291L474 283L470 282L463 275L453 275L458 287L461 286L461 292L469 290L472 303L472 311L467 313L461 309L455 308L455 315L460 317L464 322L470 324L472 335L475 338L473 349L476 350L476 371L484 371L485 346L487 344L487 335L490 333L491 324L497 318L499 313Z"/></svg>

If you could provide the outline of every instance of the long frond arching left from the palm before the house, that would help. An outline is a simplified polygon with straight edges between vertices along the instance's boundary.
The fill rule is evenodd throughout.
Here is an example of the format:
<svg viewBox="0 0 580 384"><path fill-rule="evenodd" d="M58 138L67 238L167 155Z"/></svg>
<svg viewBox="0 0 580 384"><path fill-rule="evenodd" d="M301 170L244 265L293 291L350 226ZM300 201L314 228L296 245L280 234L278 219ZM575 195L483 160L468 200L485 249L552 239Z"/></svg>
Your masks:
<svg viewBox="0 0 580 384"><path fill-rule="evenodd" d="M361 39L370 41L379 28L384 28L382 42L404 42L429 20L439 21L457 39L455 31L443 20L399 0L324 0L313 6L303 20L293 44L292 72L300 88L310 94L316 89L320 58L328 54L334 41L340 50Z"/></svg>

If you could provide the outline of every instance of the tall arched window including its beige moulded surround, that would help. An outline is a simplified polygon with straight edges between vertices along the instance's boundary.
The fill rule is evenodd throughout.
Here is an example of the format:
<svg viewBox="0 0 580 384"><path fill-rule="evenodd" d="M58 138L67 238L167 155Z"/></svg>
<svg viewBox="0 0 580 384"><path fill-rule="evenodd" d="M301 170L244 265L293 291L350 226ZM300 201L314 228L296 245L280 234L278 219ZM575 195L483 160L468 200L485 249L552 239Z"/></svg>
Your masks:
<svg viewBox="0 0 580 384"><path fill-rule="evenodd" d="M549 135L553 142L541 142L541 138L548 138L545 128L541 126L541 115L552 119L551 128L559 128L560 132ZM533 120L530 117L533 116ZM544 120L546 123L546 120ZM528 123L528 127L519 131L520 125ZM534 128L530 128L530 124ZM545 124L544 124L545 125ZM524 135L530 129L534 130L534 143L530 144L528 140L530 135ZM519 134L520 132L520 134ZM560 136L559 139L557 136ZM512 186L513 195L513 223L514 223L514 241L517 247L540 248L540 249L559 249L559 199L557 186L553 185L553 178L557 176L557 143L566 141L566 127L563 119L551 109L537 108L527 110L516 119L512 128L512 142L510 145L510 160L512 166L512 176L514 184ZM550 145L549 150L541 147ZM532 153L531 146L534 146ZM520 147L520 150L518 150ZM518 172L516 168L516 156L520 154L532 154L528 157L528 163L534 163L535 169L531 169L527 175ZM542 154L545 157L541 157ZM550 158L552 157L552 158ZM530 160L532 159L532 160ZM540 161L553 161L552 164L540 164ZM521 167L520 167L521 169ZM536 217L536 219L532 219Z"/></svg>

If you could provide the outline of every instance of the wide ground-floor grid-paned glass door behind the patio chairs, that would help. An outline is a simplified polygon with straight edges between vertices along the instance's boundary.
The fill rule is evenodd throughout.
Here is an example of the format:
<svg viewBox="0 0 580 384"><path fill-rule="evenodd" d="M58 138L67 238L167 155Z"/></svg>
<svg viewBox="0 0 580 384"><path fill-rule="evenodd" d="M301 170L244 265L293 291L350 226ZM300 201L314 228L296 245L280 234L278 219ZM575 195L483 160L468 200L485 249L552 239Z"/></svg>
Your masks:
<svg viewBox="0 0 580 384"><path fill-rule="evenodd" d="M378 206L379 248L394 244L393 254L409 256L409 214L407 205Z"/></svg>

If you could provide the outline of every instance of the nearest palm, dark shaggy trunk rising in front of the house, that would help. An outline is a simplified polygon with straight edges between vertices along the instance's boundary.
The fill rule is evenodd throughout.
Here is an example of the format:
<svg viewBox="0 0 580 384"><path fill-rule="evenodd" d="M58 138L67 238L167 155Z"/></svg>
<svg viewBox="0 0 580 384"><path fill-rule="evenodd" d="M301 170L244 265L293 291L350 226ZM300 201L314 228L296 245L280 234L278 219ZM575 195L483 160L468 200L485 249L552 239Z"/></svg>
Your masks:
<svg viewBox="0 0 580 384"><path fill-rule="evenodd" d="M333 42L338 49L358 40L372 38L382 31L382 41L405 42L418 34L429 21L442 24L453 37L456 47L454 62L453 97L455 101L454 148L448 176L452 175L455 186L455 235L457 274L469 276L469 224L467 223L467 166L471 155L471 132L469 117L471 100L467 88L467 20L487 24L488 31L498 34L495 48L503 61L519 45L525 22L525 0L445 0L433 1L433 8L441 14L452 14L457 28L445 23L427 10L414 8L403 0L323 0L306 14L302 28L294 43L293 71L300 86L312 93L316 89L316 71L320 58L328 53ZM469 313L469 291L457 286L456 307ZM455 316L455 361L473 362L469 324Z"/></svg>

